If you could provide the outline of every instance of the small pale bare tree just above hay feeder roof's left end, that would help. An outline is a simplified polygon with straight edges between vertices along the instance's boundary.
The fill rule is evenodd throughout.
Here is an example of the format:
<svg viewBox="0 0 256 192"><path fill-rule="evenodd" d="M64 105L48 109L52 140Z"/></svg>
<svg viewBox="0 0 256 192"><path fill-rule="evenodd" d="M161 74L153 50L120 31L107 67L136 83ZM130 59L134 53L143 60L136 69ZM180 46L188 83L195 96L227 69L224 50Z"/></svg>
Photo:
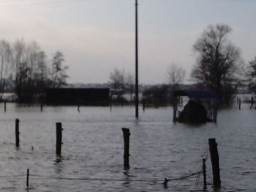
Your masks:
<svg viewBox="0 0 256 192"><path fill-rule="evenodd" d="M172 91L176 91L180 84L184 81L186 71L177 64L173 63L168 67L167 78L168 83L171 85Z"/></svg>

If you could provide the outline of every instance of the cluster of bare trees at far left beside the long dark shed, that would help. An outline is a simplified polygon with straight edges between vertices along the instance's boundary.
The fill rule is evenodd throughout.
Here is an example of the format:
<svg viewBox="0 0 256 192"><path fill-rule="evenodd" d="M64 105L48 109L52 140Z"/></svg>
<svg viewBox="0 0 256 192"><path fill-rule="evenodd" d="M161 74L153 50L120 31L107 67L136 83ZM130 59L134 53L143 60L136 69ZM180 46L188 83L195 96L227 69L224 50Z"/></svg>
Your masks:
<svg viewBox="0 0 256 192"><path fill-rule="evenodd" d="M0 40L0 62L0 92L6 92L12 82L20 102L39 100L44 88L65 85L68 78L62 52L56 51L48 60L36 41Z"/></svg>

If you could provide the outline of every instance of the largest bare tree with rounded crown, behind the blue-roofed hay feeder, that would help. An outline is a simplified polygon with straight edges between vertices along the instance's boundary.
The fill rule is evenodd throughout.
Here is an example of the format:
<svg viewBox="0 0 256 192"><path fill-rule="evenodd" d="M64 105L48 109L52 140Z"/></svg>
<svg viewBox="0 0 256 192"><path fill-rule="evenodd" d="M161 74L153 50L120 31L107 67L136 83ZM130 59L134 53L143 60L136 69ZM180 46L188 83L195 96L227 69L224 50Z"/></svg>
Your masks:
<svg viewBox="0 0 256 192"><path fill-rule="evenodd" d="M209 25L193 48L199 54L191 77L206 89L218 94L220 102L228 103L236 91L235 72L240 64L240 51L227 39L228 25Z"/></svg>

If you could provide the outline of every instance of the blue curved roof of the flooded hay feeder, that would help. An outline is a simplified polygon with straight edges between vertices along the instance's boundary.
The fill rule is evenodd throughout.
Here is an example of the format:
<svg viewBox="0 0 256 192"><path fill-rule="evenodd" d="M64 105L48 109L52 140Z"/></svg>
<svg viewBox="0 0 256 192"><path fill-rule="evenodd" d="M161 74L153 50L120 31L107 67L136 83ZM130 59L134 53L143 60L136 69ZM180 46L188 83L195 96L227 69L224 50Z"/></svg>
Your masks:
<svg viewBox="0 0 256 192"><path fill-rule="evenodd" d="M188 96L192 99L217 99L218 95L213 91L194 91L194 90L177 90L173 93L173 96Z"/></svg>

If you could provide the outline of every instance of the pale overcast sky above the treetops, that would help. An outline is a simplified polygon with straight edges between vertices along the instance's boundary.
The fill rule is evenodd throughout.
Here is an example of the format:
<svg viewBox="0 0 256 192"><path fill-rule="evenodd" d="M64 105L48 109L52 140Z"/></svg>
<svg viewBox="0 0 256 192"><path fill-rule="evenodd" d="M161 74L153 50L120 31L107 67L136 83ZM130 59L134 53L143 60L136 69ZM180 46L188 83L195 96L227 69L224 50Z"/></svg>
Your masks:
<svg viewBox="0 0 256 192"><path fill-rule="evenodd" d="M59 50L68 83L105 83L114 68L134 73L135 0L0 0L0 39ZM195 63L192 46L209 24L228 24L248 62L256 56L256 0L138 0L139 83L166 83L175 62Z"/></svg>

